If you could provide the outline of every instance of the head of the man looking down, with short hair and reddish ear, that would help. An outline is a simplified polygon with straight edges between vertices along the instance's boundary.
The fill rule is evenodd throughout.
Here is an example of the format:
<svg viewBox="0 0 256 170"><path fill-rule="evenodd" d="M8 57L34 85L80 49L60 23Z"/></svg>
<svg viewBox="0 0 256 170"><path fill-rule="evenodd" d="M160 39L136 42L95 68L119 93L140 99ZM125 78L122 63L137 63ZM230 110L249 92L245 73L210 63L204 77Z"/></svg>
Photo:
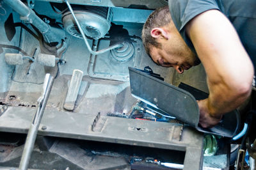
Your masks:
<svg viewBox="0 0 256 170"><path fill-rule="evenodd" d="M173 66L183 73L200 63L173 24L168 6L157 8L149 15L143 26L142 40L147 54L158 65Z"/></svg>

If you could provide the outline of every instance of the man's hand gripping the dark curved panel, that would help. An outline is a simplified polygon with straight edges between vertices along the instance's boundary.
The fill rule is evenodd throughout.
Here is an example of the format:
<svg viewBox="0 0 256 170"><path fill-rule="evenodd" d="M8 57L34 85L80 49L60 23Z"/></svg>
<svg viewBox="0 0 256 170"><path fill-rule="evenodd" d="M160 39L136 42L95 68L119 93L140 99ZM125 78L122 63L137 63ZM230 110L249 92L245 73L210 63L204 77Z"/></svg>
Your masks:
<svg viewBox="0 0 256 170"><path fill-rule="evenodd" d="M212 116L211 112L209 111L207 99L205 100L197 100L197 104L200 109L200 119L199 123L203 128L209 128L214 127L214 125L217 125L221 118L221 116Z"/></svg>

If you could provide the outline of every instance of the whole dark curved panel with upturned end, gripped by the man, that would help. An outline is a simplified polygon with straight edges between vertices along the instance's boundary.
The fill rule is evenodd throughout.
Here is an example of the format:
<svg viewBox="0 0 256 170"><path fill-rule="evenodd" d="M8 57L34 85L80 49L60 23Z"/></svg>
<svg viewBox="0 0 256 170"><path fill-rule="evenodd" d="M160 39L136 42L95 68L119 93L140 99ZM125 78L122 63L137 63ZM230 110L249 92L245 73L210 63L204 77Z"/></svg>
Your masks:
<svg viewBox="0 0 256 170"><path fill-rule="evenodd" d="M129 67L129 72L131 93L134 97L161 109L184 123L188 123L200 132L224 137L236 135L240 123L238 111L235 110L225 114L215 127L199 127L199 108L195 97L191 93L156 79L147 73L141 72L141 70Z"/></svg>

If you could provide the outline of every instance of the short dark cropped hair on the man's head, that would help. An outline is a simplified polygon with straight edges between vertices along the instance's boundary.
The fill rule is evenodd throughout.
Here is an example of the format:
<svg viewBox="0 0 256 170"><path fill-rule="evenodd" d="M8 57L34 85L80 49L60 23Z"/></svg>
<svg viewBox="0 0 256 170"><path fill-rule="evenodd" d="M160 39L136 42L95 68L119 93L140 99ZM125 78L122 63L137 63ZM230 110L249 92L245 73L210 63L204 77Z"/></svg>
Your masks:
<svg viewBox="0 0 256 170"><path fill-rule="evenodd" d="M156 38L151 36L151 30L154 27L167 26L170 24L171 20L172 17L168 6L157 8L148 16L148 19L146 20L142 29L142 41L148 56L150 45L161 48L161 44L156 41Z"/></svg>

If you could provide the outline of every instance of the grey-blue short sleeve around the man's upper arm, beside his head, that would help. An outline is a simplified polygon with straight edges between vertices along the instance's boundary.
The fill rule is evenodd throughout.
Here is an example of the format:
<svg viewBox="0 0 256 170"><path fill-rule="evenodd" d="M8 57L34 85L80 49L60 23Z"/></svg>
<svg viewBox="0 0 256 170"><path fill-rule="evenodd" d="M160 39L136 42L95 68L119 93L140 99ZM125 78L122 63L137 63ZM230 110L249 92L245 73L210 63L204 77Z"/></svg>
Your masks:
<svg viewBox="0 0 256 170"><path fill-rule="evenodd" d="M196 17L196 15L207 10L220 10L219 6L219 0L169 0L169 9L173 23L177 27L184 41L187 43L188 47L193 52L195 52L195 48L193 47L191 40L189 40L186 35L184 27L189 20Z"/></svg>

